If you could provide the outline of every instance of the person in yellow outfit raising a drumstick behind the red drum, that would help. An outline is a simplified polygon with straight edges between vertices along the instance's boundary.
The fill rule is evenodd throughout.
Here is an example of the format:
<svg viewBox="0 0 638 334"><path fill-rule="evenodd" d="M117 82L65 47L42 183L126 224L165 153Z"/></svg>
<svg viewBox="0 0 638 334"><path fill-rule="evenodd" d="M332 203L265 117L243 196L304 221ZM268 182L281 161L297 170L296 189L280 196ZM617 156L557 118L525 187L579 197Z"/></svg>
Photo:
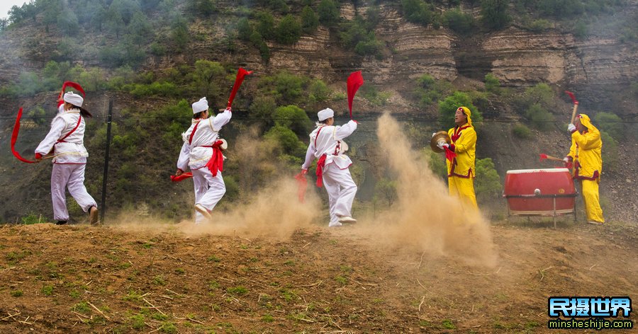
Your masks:
<svg viewBox="0 0 638 334"><path fill-rule="evenodd" d="M605 219L598 197L600 173L603 172L603 141L600 139L600 131L585 114L578 115L567 130L571 132L571 149L564 161L567 164L573 163L573 178L581 180L587 222L603 224Z"/></svg>

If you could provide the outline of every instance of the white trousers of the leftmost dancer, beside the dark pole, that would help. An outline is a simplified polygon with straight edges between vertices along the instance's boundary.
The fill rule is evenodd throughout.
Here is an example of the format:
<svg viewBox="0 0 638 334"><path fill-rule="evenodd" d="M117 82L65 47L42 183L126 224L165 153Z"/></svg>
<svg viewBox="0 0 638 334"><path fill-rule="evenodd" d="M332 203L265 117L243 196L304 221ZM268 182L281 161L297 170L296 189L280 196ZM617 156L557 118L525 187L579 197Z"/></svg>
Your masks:
<svg viewBox="0 0 638 334"><path fill-rule="evenodd" d="M69 188L69 193L84 212L88 212L91 207L97 207L97 203L84 187L85 167L84 164L53 163L51 172L53 219L58 221L69 219L66 188Z"/></svg>

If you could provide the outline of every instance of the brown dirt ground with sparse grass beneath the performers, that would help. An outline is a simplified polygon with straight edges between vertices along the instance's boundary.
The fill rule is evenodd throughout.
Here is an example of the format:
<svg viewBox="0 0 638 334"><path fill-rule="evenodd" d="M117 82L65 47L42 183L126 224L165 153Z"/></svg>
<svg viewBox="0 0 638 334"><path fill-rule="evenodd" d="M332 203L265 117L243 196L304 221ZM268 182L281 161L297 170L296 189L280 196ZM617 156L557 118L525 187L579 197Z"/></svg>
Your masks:
<svg viewBox="0 0 638 334"><path fill-rule="evenodd" d="M537 333L548 296L638 294L635 225L491 223L496 261L468 265L376 247L363 224L286 240L184 224L2 226L0 332Z"/></svg>

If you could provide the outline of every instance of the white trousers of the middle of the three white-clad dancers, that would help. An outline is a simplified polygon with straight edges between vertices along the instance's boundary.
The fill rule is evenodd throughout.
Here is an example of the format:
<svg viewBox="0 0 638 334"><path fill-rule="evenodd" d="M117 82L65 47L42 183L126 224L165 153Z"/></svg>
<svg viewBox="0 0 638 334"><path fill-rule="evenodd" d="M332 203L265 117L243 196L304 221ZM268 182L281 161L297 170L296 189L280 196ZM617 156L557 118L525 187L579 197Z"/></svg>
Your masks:
<svg viewBox="0 0 638 334"><path fill-rule="evenodd" d="M226 192L226 185L221 172L218 171L217 176L213 176L206 166L191 172L193 173L193 183L195 184L195 204L212 211ZM199 224L202 221L205 221L203 215L195 212L195 224Z"/></svg>

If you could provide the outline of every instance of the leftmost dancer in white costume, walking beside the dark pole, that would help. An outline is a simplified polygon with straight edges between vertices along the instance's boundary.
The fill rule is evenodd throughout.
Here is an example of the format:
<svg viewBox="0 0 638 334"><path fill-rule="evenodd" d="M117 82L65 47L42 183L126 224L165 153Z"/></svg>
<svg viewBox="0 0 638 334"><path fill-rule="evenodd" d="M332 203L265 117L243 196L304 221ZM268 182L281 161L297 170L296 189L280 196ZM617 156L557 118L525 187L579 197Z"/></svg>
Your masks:
<svg viewBox="0 0 638 334"><path fill-rule="evenodd" d="M91 117L91 113L82 108L83 102L82 96L65 93L64 104L53 118L47 137L35 149L35 161L52 153L51 199L53 219L58 225L66 224L69 219L66 188L82 210L89 212L91 224L98 222L97 203L84 187L84 168L89 156L84 147L84 118Z"/></svg>

